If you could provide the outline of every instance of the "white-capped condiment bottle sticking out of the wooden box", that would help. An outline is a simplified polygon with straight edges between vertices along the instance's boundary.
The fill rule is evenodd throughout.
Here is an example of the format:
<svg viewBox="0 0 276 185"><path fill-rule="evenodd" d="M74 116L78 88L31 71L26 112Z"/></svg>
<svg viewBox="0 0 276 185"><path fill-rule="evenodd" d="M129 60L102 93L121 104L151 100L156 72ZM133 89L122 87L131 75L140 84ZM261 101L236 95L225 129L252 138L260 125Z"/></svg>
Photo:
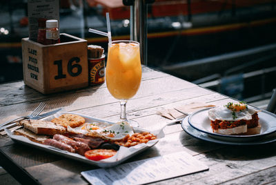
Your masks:
<svg viewBox="0 0 276 185"><path fill-rule="evenodd" d="M46 21L46 43L59 43L59 23L55 19Z"/></svg>

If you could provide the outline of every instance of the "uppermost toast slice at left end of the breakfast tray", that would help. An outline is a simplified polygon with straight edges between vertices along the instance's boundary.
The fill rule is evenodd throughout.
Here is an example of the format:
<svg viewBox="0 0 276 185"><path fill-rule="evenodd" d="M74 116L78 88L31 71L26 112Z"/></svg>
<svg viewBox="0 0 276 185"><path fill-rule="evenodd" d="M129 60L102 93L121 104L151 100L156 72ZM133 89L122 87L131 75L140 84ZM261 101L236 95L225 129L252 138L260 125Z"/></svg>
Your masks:
<svg viewBox="0 0 276 185"><path fill-rule="evenodd" d="M24 128L37 135L55 135L66 133L66 128L50 121L25 119L19 122Z"/></svg>

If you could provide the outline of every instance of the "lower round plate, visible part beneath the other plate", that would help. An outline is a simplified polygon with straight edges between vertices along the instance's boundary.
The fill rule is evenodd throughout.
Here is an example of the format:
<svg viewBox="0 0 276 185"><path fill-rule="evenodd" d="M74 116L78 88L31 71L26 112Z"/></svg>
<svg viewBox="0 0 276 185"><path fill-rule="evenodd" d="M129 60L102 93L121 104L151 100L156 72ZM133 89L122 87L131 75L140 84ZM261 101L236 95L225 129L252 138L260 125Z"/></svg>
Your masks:
<svg viewBox="0 0 276 185"><path fill-rule="evenodd" d="M201 139L207 142L213 142L217 144L230 144L230 145L239 145L239 146L245 146L245 145L257 145L257 144L268 144L271 142L276 142L276 133L272 135L268 135L266 137L261 137L257 140L251 141L251 142L236 142L235 140L233 141L226 141L224 139L219 139L215 137L210 137L210 135L206 133L202 133L199 130L193 128L188 124L188 117L185 117L182 120L181 126L183 130L188 133L188 135L191 135L193 137L196 137L197 139Z"/></svg>

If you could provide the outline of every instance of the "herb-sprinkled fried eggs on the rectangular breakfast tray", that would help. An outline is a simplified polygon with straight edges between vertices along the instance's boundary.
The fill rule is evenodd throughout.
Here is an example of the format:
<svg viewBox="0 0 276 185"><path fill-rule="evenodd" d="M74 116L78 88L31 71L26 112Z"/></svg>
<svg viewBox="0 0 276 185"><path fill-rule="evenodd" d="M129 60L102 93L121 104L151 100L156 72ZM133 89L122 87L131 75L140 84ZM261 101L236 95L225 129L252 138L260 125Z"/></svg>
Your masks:
<svg viewBox="0 0 276 185"><path fill-rule="evenodd" d="M120 121L116 124L93 122L86 123L76 128L67 127L68 132L83 134L91 137L100 137L102 139L119 140L126 135L132 135L132 127L126 121Z"/></svg>

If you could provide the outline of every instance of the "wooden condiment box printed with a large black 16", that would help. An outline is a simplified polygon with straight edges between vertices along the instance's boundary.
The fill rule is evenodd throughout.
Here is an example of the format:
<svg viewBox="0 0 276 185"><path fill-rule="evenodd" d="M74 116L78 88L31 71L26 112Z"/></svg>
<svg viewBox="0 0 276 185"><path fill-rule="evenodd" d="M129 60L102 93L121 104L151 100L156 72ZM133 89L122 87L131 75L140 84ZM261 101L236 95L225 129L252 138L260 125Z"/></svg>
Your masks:
<svg viewBox="0 0 276 185"><path fill-rule="evenodd" d="M43 94L88 86L87 41L62 33L61 43L22 39L24 83Z"/></svg>

